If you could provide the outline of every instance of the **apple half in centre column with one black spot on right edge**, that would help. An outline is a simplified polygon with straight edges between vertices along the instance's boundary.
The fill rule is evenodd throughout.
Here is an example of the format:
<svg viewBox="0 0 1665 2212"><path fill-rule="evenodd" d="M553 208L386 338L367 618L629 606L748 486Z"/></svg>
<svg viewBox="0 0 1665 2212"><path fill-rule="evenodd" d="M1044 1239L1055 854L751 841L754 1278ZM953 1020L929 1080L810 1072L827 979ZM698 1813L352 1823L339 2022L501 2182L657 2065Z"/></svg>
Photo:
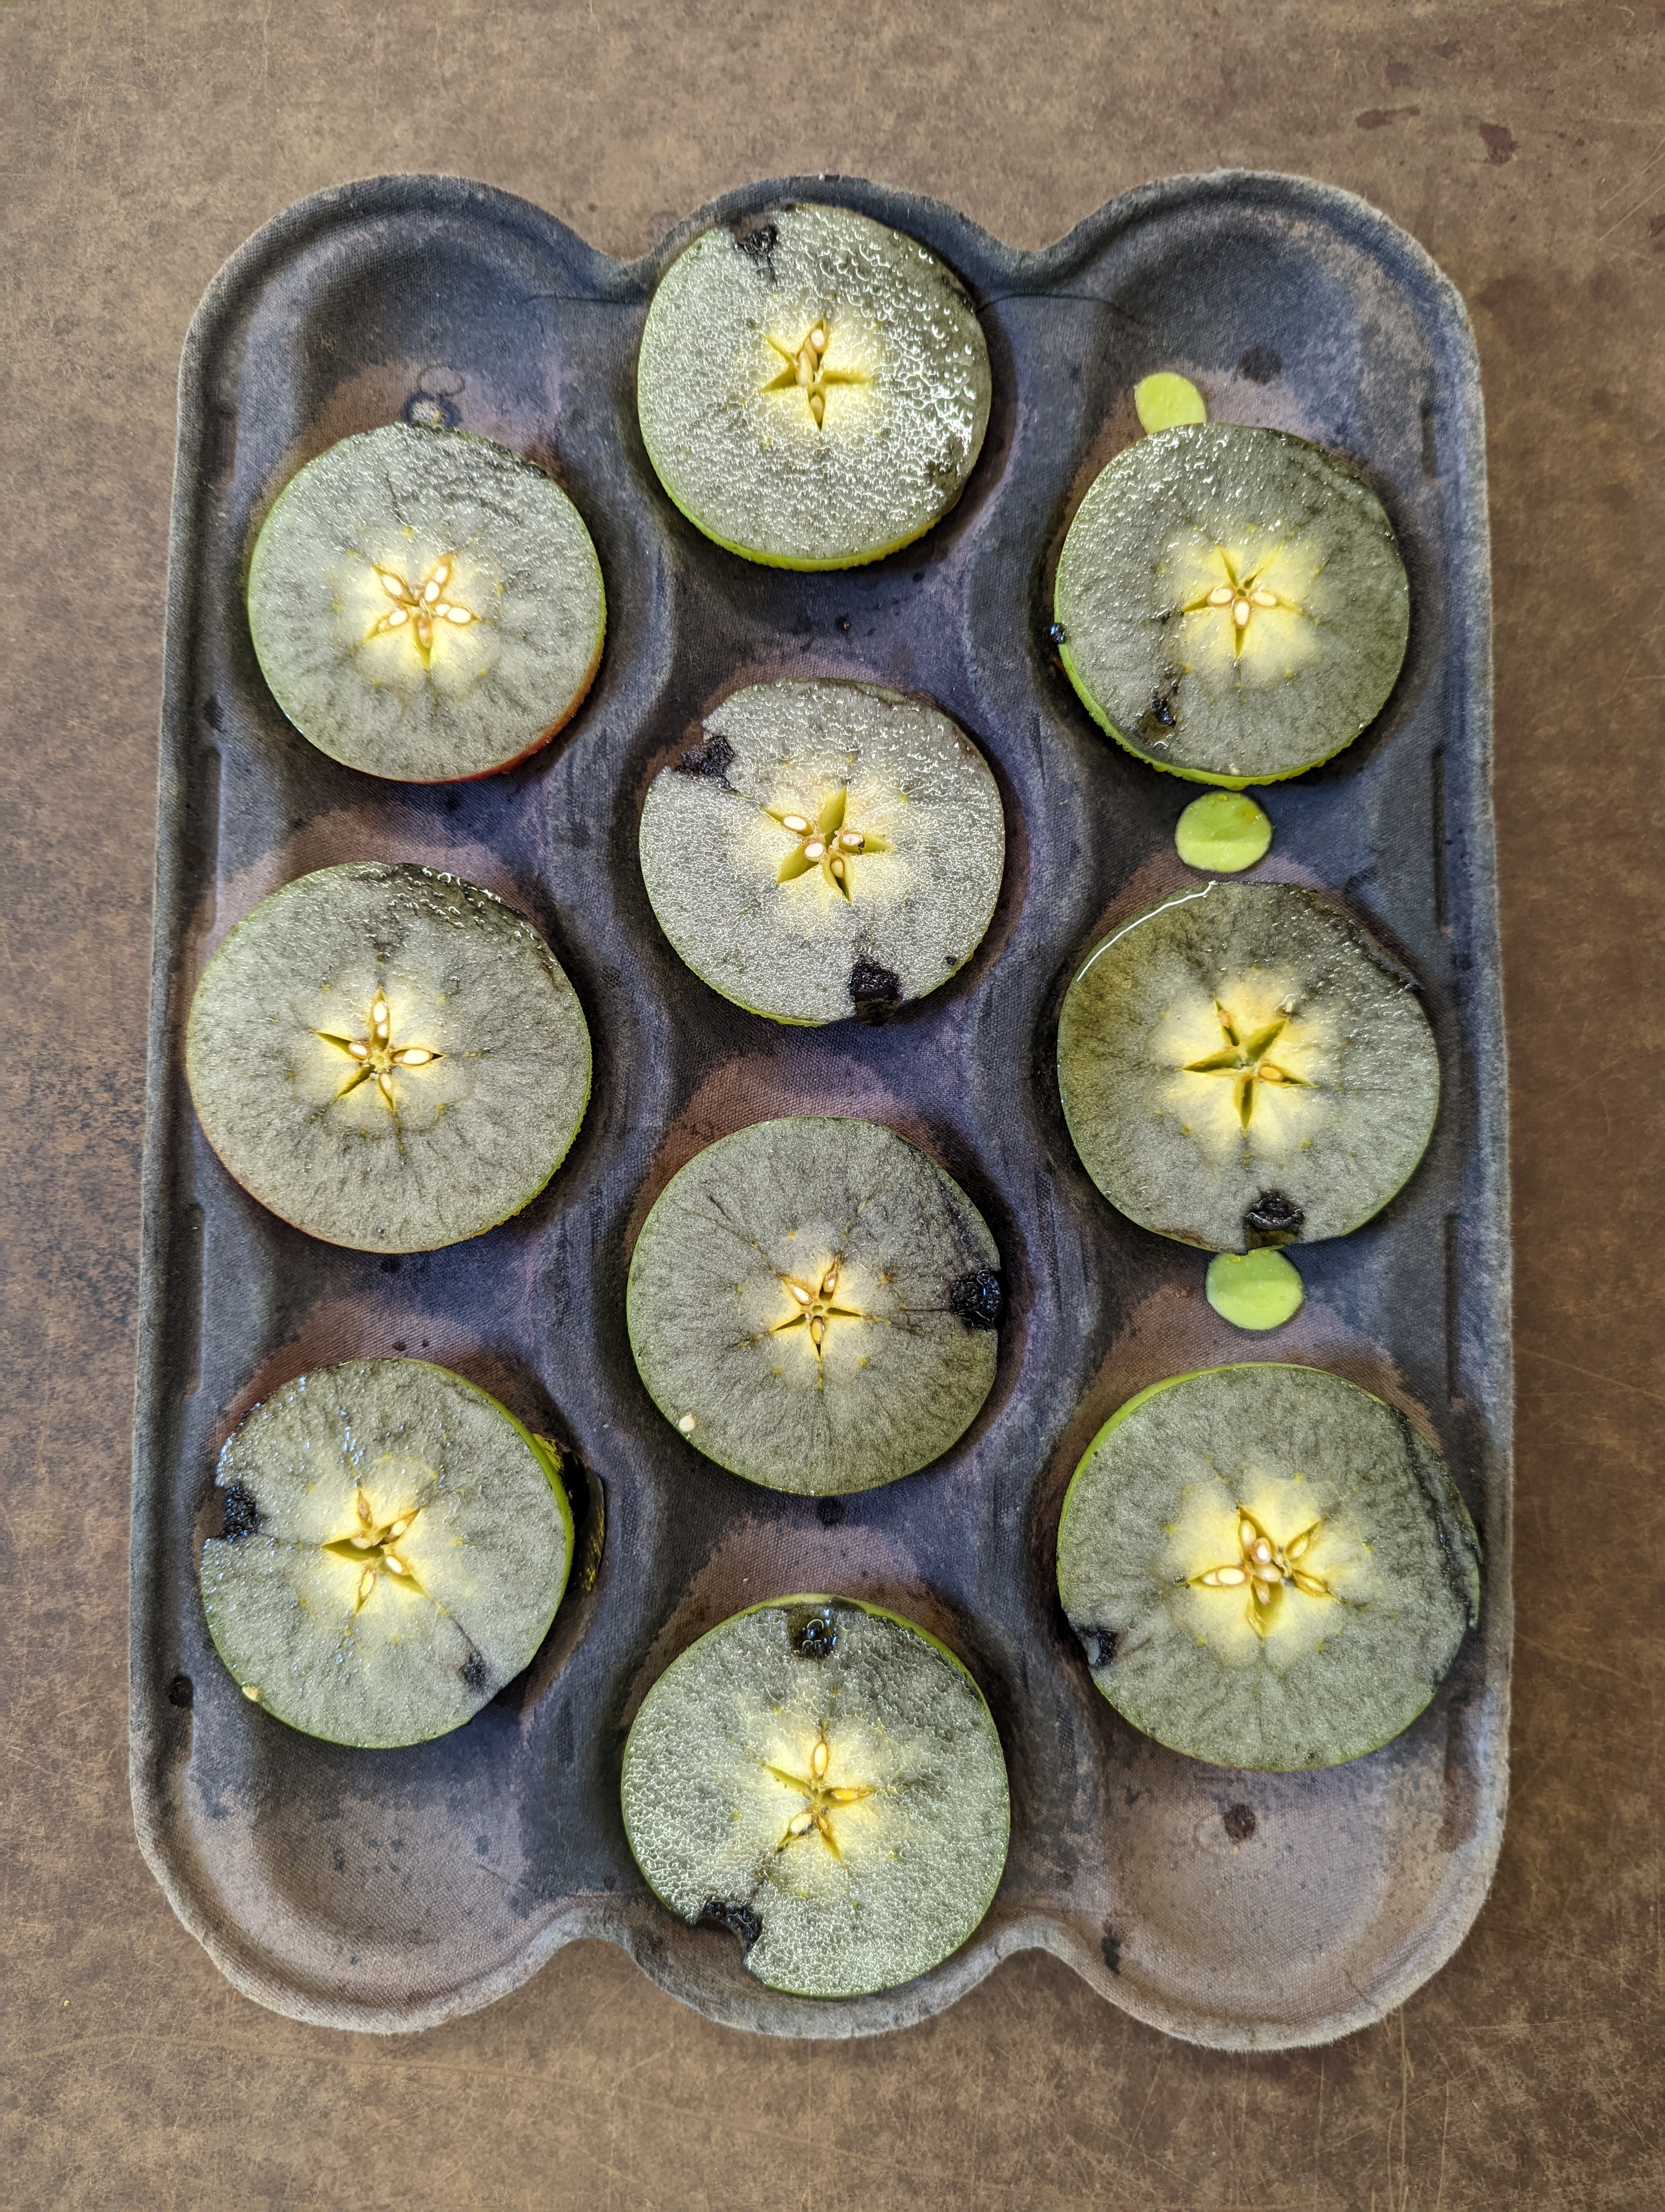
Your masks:
<svg viewBox="0 0 1665 2212"><path fill-rule="evenodd" d="M999 1250L926 1152L876 1121L758 1121L655 1199L630 1256L637 1371L688 1442L825 1498L940 1458L995 1380Z"/></svg>

